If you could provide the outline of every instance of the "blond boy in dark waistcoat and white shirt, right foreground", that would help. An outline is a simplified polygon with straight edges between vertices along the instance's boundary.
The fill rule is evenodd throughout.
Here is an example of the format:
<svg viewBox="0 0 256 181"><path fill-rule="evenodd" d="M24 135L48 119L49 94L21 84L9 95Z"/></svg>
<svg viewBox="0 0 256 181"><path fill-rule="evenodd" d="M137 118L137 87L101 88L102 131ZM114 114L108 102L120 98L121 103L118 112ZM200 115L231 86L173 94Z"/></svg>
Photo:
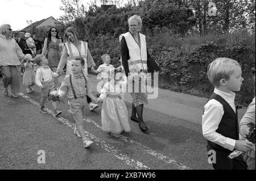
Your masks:
<svg viewBox="0 0 256 181"><path fill-rule="evenodd" d="M236 94L233 91L240 91L243 81L240 64L230 58L217 58L208 66L207 75L215 87L202 117L203 135L211 159L208 161L216 170L246 170L242 155L228 158L234 149L247 151L253 146L240 138L234 104Z"/></svg>

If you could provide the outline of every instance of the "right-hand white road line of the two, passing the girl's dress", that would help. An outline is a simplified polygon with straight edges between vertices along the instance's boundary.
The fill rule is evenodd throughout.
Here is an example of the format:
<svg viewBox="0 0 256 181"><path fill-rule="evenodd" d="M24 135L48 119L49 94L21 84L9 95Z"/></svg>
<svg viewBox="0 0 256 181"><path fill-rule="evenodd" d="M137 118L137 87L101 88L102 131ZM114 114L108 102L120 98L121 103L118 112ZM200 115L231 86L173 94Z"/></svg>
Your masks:
<svg viewBox="0 0 256 181"><path fill-rule="evenodd" d="M90 119L89 117L85 117L84 119L86 122L88 123L92 123L94 124L95 127L97 128L101 128L100 125L98 125L95 121L93 121L92 119ZM131 140L130 138L126 137L126 136L121 136L119 139L129 143L129 144L135 144L135 145L138 145L138 148L142 149L144 152L164 161L165 163L167 164L171 164L171 165L174 165L177 167L177 169L180 169L180 170L192 170L191 168L185 166L185 165L182 165L181 163L177 163L174 159L170 159L169 157L167 157L166 155L163 155L162 153L157 153L155 150L152 150L151 148L148 148L147 146L144 146L142 144L140 144L139 142L137 141L134 141L134 140Z"/></svg>

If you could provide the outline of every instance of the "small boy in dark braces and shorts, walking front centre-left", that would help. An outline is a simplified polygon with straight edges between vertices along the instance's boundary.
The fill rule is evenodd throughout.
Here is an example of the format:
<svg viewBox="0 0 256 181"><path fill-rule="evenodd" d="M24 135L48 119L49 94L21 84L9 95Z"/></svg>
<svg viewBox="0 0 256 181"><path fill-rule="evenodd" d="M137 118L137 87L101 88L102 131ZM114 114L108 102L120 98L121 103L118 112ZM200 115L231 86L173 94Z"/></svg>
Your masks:
<svg viewBox="0 0 256 181"><path fill-rule="evenodd" d="M59 89L59 96L63 98L65 94L68 96L68 104L73 116L76 121L76 128L74 133L78 137L82 137L82 144L84 148L88 148L93 141L85 136L84 133L84 120L83 116L86 112L87 100L86 95L92 100L96 100L96 97L92 94L92 85L88 77L85 77L82 70L84 69L84 58L77 57L75 60L71 60L72 74L66 75L64 81L61 83Z"/></svg>

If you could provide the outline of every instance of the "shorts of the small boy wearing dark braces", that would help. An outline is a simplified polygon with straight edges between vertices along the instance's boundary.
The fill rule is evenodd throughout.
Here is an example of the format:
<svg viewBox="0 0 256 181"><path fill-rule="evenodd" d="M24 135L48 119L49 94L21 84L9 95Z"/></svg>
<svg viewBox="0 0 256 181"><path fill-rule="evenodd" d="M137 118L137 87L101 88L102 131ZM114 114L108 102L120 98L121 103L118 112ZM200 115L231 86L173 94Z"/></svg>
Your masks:
<svg viewBox="0 0 256 181"><path fill-rule="evenodd" d="M76 125L83 125L83 115L85 115L86 106L88 104L86 96L81 96L77 99L69 99L68 104L72 112L73 119L76 121Z"/></svg>

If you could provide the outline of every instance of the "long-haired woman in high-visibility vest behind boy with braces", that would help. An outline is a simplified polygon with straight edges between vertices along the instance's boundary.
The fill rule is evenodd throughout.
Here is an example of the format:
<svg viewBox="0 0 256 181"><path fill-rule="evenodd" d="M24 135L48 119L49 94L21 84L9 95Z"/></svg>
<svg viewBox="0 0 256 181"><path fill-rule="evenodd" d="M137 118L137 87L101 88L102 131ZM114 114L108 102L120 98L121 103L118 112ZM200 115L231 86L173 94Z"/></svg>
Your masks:
<svg viewBox="0 0 256 181"><path fill-rule="evenodd" d="M77 31L74 27L68 27L64 34L64 48L56 72L59 73L60 71L63 71L65 64L67 64L66 74L71 74L71 60L77 57L82 57L85 60L85 76L88 75L88 68L92 67L92 70L95 70L94 66L96 66L96 64L94 63L93 57L90 54L88 44L79 39ZM90 111L98 107L98 104L92 103L92 100L89 97L87 97L87 102L89 103Z"/></svg>

